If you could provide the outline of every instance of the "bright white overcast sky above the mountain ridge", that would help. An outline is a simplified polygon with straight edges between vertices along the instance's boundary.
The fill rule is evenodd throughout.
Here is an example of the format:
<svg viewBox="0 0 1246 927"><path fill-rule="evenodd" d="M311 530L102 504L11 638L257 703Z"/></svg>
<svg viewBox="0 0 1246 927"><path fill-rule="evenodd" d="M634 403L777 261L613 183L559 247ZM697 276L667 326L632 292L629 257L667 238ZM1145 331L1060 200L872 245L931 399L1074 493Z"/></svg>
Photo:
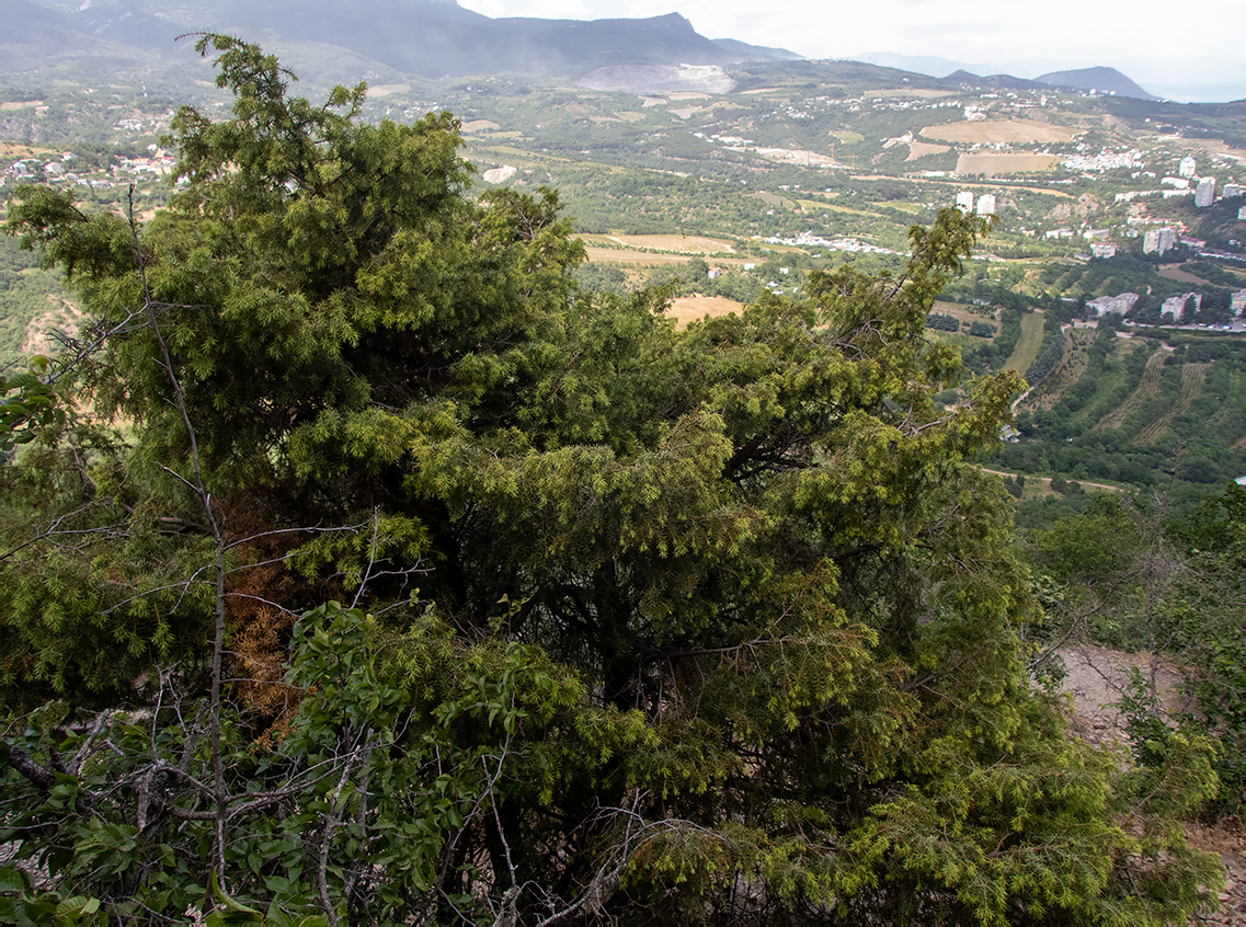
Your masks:
<svg viewBox="0 0 1246 927"><path fill-rule="evenodd" d="M807 57L865 52L1116 67L1141 83L1246 85L1246 2L1201 0L459 0L486 16L640 19L680 12L710 39L739 39ZM1050 64L1052 67L1043 65ZM1034 70L1037 66L1039 70ZM1032 71L1022 74L1022 71Z"/></svg>

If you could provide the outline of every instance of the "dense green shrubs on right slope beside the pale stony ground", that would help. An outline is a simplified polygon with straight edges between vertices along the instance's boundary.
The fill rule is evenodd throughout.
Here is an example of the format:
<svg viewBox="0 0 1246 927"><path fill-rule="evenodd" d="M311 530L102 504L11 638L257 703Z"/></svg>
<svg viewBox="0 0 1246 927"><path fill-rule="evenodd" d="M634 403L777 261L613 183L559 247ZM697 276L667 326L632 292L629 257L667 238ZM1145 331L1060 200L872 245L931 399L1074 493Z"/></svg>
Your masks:
<svg viewBox="0 0 1246 927"><path fill-rule="evenodd" d="M1211 744L1220 787L1201 810L1212 815L1239 815L1246 800L1244 515L1246 491L1237 486L1177 520L1096 493L1080 513L1032 532L1053 619L1042 637L1091 637L1150 654L1149 668L1135 673L1123 701L1135 760L1159 770L1175 754ZM1181 655L1185 700L1176 710L1160 696L1165 654Z"/></svg>

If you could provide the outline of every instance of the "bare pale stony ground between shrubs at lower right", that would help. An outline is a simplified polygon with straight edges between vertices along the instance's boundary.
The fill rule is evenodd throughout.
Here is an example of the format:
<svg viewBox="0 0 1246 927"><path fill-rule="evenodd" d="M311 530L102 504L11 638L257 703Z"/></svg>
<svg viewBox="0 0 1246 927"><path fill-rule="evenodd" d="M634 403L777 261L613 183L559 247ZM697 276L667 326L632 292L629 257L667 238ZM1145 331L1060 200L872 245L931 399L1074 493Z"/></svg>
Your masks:
<svg viewBox="0 0 1246 927"><path fill-rule="evenodd" d="M1079 644L1063 648L1060 658L1065 669L1060 689L1073 696L1073 730L1096 744L1124 739L1124 719L1116 701L1124 693L1131 667L1138 667L1144 675L1149 673L1146 654ZM1158 682L1165 705L1170 710L1180 709L1176 672L1160 664ZM1225 891L1220 895L1220 911L1191 923L1246 927L1246 837L1241 822L1215 827L1191 825L1189 839L1192 846L1219 853L1229 871Z"/></svg>

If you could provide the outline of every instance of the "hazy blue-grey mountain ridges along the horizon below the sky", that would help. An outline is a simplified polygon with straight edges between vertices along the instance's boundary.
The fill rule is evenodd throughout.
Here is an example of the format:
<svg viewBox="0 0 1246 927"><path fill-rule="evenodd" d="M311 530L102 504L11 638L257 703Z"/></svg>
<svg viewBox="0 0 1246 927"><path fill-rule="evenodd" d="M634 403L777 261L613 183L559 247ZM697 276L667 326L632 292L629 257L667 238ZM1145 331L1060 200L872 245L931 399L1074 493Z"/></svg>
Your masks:
<svg viewBox="0 0 1246 927"><path fill-rule="evenodd" d="M663 77L663 67L800 57L740 39L708 39L677 12L649 19L591 21L491 19L459 6L455 0L359 0L346 5L299 0L174 0L169 4L156 0L9 0L5 19L0 66L12 70L75 55L167 60L173 55L184 56L174 44L177 36L206 30L231 32L287 50L300 45L315 45L321 51L338 49L344 56L422 77L515 72L582 78L606 69L589 82L598 86L602 81L617 82L619 88L635 88L647 80L667 80L669 75ZM1018 71L1034 74L1034 62L1017 62L1018 69L992 65L986 70L933 56L860 57L933 76L951 75L953 80L972 75L999 83L1020 80L1011 77ZM637 71L637 67L649 70ZM619 69L627 70L621 72ZM989 77L992 74L997 76ZM1008 77L998 76L1002 74ZM1113 69L1054 71L1033 80L1143 100L1158 98Z"/></svg>

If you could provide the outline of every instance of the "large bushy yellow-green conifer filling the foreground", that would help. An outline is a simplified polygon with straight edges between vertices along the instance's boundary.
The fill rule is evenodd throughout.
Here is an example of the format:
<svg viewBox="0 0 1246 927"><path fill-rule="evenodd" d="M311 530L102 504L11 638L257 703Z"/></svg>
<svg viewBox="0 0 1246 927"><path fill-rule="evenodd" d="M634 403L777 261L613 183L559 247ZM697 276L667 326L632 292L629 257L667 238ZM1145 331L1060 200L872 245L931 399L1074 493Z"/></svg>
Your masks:
<svg viewBox="0 0 1246 927"><path fill-rule="evenodd" d="M677 330L574 284L552 191L471 198L447 113L361 123L363 86L315 107L255 46L199 47L233 117L179 111L167 209L10 203L97 348L5 470L0 840L49 880L2 870L5 911L1200 903L1216 868L1170 817L1214 787L1197 745L1130 771L1027 677L1040 612L967 462L1019 379L932 399L962 371L926 319L979 221Z"/></svg>

